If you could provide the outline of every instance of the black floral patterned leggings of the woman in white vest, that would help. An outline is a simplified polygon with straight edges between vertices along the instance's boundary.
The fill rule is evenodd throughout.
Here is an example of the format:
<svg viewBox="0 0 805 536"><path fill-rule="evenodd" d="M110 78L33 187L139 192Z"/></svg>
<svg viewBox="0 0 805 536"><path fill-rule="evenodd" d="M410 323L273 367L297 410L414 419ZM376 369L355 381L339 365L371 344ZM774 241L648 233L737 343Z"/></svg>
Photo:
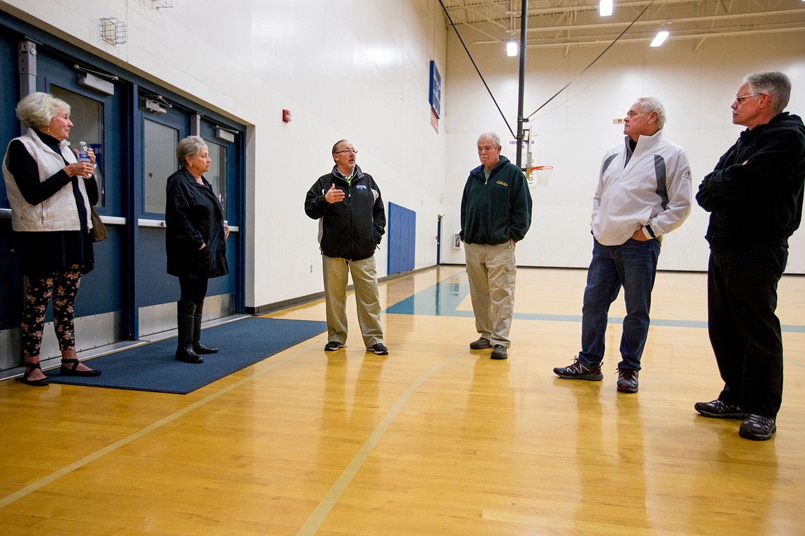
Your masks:
<svg viewBox="0 0 805 536"><path fill-rule="evenodd" d="M28 279L28 293L23 307L22 328L23 355L39 356L42 347L42 332L45 325L47 303L53 297L53 326L59 339L60 350L76 348L76 330L73 326L73 305L81 282L81 266L68 266L64 271L47 277Z"/></svg>

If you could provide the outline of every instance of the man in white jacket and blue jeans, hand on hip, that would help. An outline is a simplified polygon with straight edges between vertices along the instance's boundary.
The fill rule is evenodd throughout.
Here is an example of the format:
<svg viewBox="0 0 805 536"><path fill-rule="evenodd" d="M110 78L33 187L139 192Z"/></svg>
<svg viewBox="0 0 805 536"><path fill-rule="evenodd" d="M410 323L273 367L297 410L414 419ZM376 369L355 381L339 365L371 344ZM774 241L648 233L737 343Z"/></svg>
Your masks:
<svg viewBox="0 0 805 536"><path fill-rule="evenodd" d="M691 166L685 150L663 137L663 104L642 97L624 118L625 144L604 155L592 200L592 262L582 307L581 350L554 373L601 381L609 306L623 287L626 315L617 390L636 393L649 329L651 290L663 235L691 212Z"/></svg>

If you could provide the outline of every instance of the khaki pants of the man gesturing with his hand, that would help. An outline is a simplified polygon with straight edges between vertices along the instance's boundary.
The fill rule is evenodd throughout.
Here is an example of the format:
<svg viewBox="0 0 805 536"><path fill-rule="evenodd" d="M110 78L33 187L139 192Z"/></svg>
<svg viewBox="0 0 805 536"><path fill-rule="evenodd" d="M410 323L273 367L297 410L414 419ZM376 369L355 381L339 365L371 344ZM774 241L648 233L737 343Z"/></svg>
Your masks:
<svg viewBox="0 0 805 536"><path fill-rule="evenodd" d="M321 256L324 271L324 302L327 310L327 340L347 341L347 281L352 274L357 303L357 323L366 348L383 342L380 327L378 271L374 255L362 261Z"/></svg>

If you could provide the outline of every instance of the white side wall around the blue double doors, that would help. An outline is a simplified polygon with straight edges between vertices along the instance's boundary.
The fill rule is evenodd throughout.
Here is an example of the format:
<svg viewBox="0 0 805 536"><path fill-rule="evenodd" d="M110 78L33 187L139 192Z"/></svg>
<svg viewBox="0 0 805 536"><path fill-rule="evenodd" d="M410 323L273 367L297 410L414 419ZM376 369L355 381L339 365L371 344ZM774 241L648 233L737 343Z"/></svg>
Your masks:
<svg viewBox="0 0 805 536"><path fill-rule="evenodd" d="M322 290L308 188L349 138L389 202L417 213L416 268L436 263L447 145L431 128L429 62L446 71L436 0L9 0L0 8L249 126L246 306ZM101 16L128 42L101 41ZM446 102L446 99L444 99ZM290 109L290 124L281 121ZM378 275L386 275L386 241Z"/></svg>

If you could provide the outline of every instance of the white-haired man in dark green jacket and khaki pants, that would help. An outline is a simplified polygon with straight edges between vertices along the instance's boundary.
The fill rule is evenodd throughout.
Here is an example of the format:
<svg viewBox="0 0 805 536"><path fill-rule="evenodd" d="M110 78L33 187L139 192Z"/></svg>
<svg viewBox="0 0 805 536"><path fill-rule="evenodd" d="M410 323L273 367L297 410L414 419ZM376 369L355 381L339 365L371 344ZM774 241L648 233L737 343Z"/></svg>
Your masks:
<svg viewBox="0 0 805 536"><path fill-rule="evenodd" d="M469 348L492 348L492 359L506 359L517 275L514 245L531 225L531 194L520 168L501 156L497 134L481 134L477 146L481 165L469 172L461 197L469 295L481 334Z"/></svg>

